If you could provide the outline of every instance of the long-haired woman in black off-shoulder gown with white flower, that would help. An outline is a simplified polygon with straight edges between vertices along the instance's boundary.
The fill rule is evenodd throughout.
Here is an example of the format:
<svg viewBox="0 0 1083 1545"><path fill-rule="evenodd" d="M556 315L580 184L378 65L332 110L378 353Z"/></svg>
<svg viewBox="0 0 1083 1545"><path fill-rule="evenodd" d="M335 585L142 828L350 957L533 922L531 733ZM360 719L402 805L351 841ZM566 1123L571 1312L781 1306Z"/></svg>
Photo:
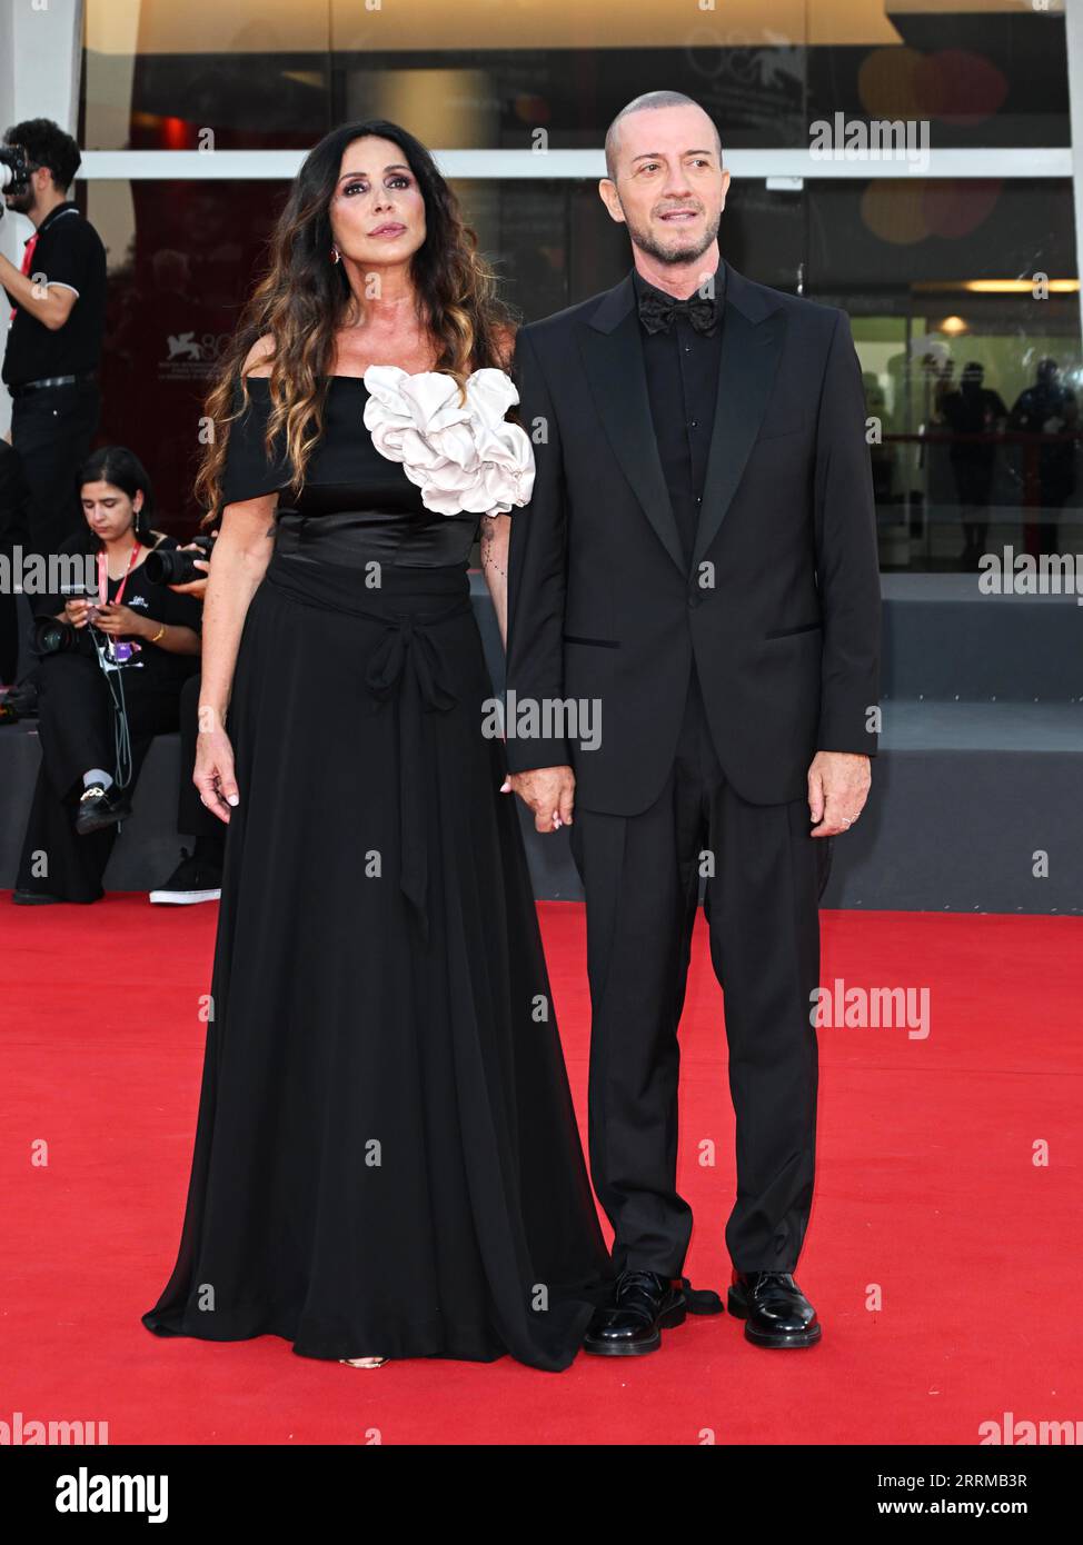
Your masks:
<svg viewBox="0 0 1083 1545"><path fill-rule="evenodd" d="M317 145L209 402L199 487L224 516L195 782L229 827L179 1258L142 1316L159 1335L562 1369L609 1278L484 732L467 564L488 496L419 464L456 419L453 372L497 380L501 315L412 136L375 121ZM394 433L411 391L431 442ZM277 422L283 392L318 422ZM450 433L493 430L479 409ZM528 491L521 465L487 479L505 511ZM480 516L494 589L514 518Z"/></svg>

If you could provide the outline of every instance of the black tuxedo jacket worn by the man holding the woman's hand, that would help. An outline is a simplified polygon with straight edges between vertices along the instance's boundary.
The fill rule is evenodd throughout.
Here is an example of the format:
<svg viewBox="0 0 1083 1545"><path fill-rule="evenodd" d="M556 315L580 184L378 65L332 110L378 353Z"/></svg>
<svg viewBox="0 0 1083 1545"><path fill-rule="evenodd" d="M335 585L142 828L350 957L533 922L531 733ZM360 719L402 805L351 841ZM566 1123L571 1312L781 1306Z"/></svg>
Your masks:
<svg viewBox="0 0 1083 1545"><path fill-rule="evenodd" d="M521 329L535 442L511 511L507 760L570 763L576 803L661 791L692 658L718 760L746 800L806 794L817 749L876 752L881 592L861 366L847 314L728 269L714 437L691 570L655 443L629 273ZM593 703L582 722L528 706ZM525 734L518 734L522 728ZM538 729L545 732L539 734Z"/></svg>

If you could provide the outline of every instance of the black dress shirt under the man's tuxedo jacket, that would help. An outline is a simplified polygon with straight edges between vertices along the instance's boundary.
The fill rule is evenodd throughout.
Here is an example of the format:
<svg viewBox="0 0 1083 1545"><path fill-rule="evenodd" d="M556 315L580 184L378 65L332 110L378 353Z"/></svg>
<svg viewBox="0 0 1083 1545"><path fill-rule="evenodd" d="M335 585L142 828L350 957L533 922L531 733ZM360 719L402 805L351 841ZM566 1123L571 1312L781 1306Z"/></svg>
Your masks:
<svg viewBox="0 0 1083 1545"><path fill-rule="evenodd" d="M640 295L655 289L638 269L633 269L632 281L637 304ZM718 396L718 362L726 307L726 264L721 260L715 270L714 284L718 301L718 324L714 332L697 332L687 317L680 315L674 320L669 332L647 332L640 323L658 456L689 567L700 522L703 479L708 470ZM666 298L672 300L674 297Z"/></svg>

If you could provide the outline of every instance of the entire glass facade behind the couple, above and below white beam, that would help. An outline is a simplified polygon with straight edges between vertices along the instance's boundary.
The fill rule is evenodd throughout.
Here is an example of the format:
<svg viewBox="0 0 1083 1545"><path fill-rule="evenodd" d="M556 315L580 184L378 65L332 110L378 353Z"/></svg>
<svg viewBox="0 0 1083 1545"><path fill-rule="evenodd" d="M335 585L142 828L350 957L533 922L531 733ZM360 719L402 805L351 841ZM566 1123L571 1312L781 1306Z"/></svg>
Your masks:
<svg viewBox="0 0 1083 1545"><path fill-rule="evenodd" d="M273 154L303 151L332 124L388 116L436 150L598 150L613 114L664 83L712 113L728 150L806 148L810 125L837 113L925 122L936 150L1010 150L1003 178L905 167L793 187L737 178L721 249L749 277L851 315L885 569L967 569L986 544L1078 545L1072 188L1018 175L1020 151L1069 142L1063 6L618 9L88 0L80 144ZM102 434L145 456L178 531L198 518L190 480L207 375L286 187L284 176L80 184L110 250ZM525 320L629 267L626 233L593 179L482 175L456 190Z"/></svg>

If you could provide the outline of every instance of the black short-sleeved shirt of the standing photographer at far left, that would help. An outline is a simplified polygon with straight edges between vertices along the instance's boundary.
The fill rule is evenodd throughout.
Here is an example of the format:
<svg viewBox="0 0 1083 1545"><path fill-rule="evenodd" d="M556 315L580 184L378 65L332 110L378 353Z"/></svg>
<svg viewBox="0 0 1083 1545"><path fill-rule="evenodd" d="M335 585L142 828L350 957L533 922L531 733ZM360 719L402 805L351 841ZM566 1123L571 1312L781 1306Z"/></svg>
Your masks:
<svg viewBox="0 0 1083 1545"><path fill-rule="evenodd" d="M53 332L8 295L17 311L0 372L5 383L96 371L105 335L105 247L74 204L57 204L39 226L31 275L73 289L79 300L63 328Z"/></svg>

